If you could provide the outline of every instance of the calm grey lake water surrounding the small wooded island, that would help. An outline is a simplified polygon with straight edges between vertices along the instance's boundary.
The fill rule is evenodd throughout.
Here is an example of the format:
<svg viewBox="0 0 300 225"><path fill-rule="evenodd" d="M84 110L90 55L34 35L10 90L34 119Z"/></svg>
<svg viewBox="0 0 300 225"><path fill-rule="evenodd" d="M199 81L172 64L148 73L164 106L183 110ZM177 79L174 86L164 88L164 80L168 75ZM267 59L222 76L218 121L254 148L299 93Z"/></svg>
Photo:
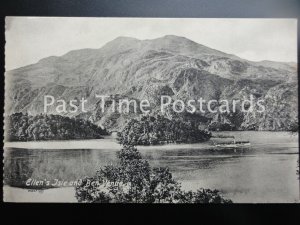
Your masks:
<svg viewBox="0 0 300 225"><path fill-rule="evenodd" d="M143 146L138 149L152 166L169 167L186 190L200 187L219 189L234 202L299 202L298 135L254 131L214 134L233 135L236 140L250 141L251 145L214 147L213 141L225 140L218 138L201 144ZM5 180L10 186L19 186L28 178L72 181L91 176L100 166L115 163L119 149L114 139L7 143ZM59 194L62 190L66 188L53 189L52 192L58 194L51 196L63 196ZM73 191L72 188L67 190ZM36 194L34 201L42 196ZM68 200L71 201L54 199Z"/></svg>

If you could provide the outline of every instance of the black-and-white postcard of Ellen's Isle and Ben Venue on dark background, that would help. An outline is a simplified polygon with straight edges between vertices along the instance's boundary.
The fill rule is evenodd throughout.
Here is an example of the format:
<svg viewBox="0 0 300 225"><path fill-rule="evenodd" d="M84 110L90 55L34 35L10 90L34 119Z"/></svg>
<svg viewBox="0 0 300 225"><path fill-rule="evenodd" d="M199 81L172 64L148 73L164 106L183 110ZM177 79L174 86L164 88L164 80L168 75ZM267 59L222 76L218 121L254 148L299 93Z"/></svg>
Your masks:
<svg viewBox="0 0 300 225"><path fill-rule="evenodd" d="M299 202L296 19L5 26L5 202Z"/></svg>

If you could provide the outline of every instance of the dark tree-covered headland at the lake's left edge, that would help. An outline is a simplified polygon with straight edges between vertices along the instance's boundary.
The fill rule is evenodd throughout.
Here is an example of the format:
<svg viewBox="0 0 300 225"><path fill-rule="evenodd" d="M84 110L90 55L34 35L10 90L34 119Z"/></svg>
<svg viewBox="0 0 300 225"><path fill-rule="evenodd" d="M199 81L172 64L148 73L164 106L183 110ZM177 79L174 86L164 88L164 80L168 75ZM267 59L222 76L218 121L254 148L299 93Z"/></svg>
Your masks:
<svg viewBox="0 0 300 225"><path fill-rule="evenodd" d="M107 134L88 120L60 115L15 113L8 117L7 123L8 141L91 139Z"/></svg>

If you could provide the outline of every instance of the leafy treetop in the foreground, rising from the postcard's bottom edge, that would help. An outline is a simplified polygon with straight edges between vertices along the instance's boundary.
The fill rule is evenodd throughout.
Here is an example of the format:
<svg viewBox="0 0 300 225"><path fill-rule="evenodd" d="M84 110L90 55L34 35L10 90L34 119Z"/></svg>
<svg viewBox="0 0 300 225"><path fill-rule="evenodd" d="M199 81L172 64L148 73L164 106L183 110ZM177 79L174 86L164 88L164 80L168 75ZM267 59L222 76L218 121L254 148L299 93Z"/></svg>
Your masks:
<svg viewBox="0 0 300 225"><path fill-rule="evenodd" d="M183 191L166 167L151 168L133 146L117 153L118 165L108 165L76 186L78 202L231 203L218 190Z"/></svg>

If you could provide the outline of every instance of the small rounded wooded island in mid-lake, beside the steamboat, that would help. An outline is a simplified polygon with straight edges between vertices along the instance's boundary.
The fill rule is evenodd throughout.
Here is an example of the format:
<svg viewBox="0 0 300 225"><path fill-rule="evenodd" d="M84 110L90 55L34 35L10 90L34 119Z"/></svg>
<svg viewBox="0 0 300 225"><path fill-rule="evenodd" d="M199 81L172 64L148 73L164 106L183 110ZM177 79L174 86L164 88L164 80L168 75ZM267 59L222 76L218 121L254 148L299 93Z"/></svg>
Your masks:
<svg viewBox="0 0 300 225"><path fill-rule="evenodd" d="M207 141L211 133L200 130L195 121L169 120L163 116L143 116L131 119L118 133L125 145L155 145L163 143L196 143Z"/></svg>

